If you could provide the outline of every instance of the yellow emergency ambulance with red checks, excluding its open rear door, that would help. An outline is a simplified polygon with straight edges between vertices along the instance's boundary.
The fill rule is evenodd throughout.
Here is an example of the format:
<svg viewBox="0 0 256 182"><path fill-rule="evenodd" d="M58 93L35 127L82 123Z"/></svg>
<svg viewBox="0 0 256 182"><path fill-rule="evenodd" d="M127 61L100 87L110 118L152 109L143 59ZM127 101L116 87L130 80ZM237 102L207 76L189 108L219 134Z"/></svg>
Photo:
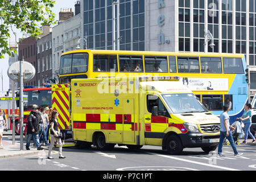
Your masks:
<svg viewBox="0 0 256 182"><path fill-rule="evenodd" d="M179 77L73 79L71 98L77 146L152 145L180 154L186 147L213 151L219 142L220 119Z"/></svg>

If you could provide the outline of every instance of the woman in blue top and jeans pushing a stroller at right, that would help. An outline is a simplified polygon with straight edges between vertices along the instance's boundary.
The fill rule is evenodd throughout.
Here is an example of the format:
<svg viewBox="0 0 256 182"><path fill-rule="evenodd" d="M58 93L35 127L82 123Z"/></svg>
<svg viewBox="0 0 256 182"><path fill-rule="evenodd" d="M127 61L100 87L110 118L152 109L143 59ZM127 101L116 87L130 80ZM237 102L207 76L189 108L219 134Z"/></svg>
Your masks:
<svg viewBox="0 0 256 182"><path fill-rule="evenodd" d="M243 113L242 117L240 117L239 119L243 122L243 124L245 124L245 140L243 140L242 143L246 144L247 143L247 137L248 135L253 139L253 142L255 142L255 137L253 136L253 134L251 134L250 132L250 127L251 127L251 104L245 104L245 112Z"/></svg>

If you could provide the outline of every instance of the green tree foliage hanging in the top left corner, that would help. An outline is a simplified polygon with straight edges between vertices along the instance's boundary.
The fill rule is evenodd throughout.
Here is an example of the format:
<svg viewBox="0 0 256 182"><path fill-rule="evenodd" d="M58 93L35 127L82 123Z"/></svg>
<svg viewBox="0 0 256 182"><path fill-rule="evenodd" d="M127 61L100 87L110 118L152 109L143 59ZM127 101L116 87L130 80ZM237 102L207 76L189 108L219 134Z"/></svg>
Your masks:
<svg viewBox="0 0 256 182"><path fill-rule="evenodd" d="M5 53L9 56L16 53L8 45L10 31L14 27L39 38L39 27L55 24L55 14L51 10L54 4L53 0L0 0L0 58ZM15 34L14 31L13 33Z"/></svg>

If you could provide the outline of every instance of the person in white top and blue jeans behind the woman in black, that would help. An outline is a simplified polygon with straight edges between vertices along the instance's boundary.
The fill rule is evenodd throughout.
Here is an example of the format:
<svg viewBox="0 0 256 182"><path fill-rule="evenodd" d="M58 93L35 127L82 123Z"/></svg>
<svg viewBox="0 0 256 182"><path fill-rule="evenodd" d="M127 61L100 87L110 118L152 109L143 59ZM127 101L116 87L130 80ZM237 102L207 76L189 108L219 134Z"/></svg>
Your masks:
<svg viewBox="0 0 256 182"><path fill-rule="evenodd" d="M40 109L40 113L42 115L42 119L40 123L39 141L40 143L44 142L44 144L41 144L41 145L48 146L49 144L47 142L46 132L48 128L47 124L49 123L49 119L48 119L48 115L46 114L46 109L44 107Z"/></svg>

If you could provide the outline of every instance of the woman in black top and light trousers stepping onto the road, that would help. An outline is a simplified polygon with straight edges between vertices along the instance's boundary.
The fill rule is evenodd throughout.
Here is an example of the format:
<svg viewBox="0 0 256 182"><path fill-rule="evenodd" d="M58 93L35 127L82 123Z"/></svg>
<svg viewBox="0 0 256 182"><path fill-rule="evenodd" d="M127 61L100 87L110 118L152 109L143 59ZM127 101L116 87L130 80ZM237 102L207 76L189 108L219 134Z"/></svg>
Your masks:
<svg viewBox="0 0 256 182"><path fill-rule="evenodd" d="M49 152L48 152L48 159L53 159L51 157L51 151L53 148L53 145L55 143L55 140L57 141L57 143L59 143L59 158L60 159L64 159L66 158L65 156L62 155L62 143L61 143L61 139L59 138L59 135L57 134L57 132L59 132L58 130L58 117L59 113L56 110L52 111L52 120L49 123L50 128L50 134L51 134L51 145L49 146Z"/></svg>

